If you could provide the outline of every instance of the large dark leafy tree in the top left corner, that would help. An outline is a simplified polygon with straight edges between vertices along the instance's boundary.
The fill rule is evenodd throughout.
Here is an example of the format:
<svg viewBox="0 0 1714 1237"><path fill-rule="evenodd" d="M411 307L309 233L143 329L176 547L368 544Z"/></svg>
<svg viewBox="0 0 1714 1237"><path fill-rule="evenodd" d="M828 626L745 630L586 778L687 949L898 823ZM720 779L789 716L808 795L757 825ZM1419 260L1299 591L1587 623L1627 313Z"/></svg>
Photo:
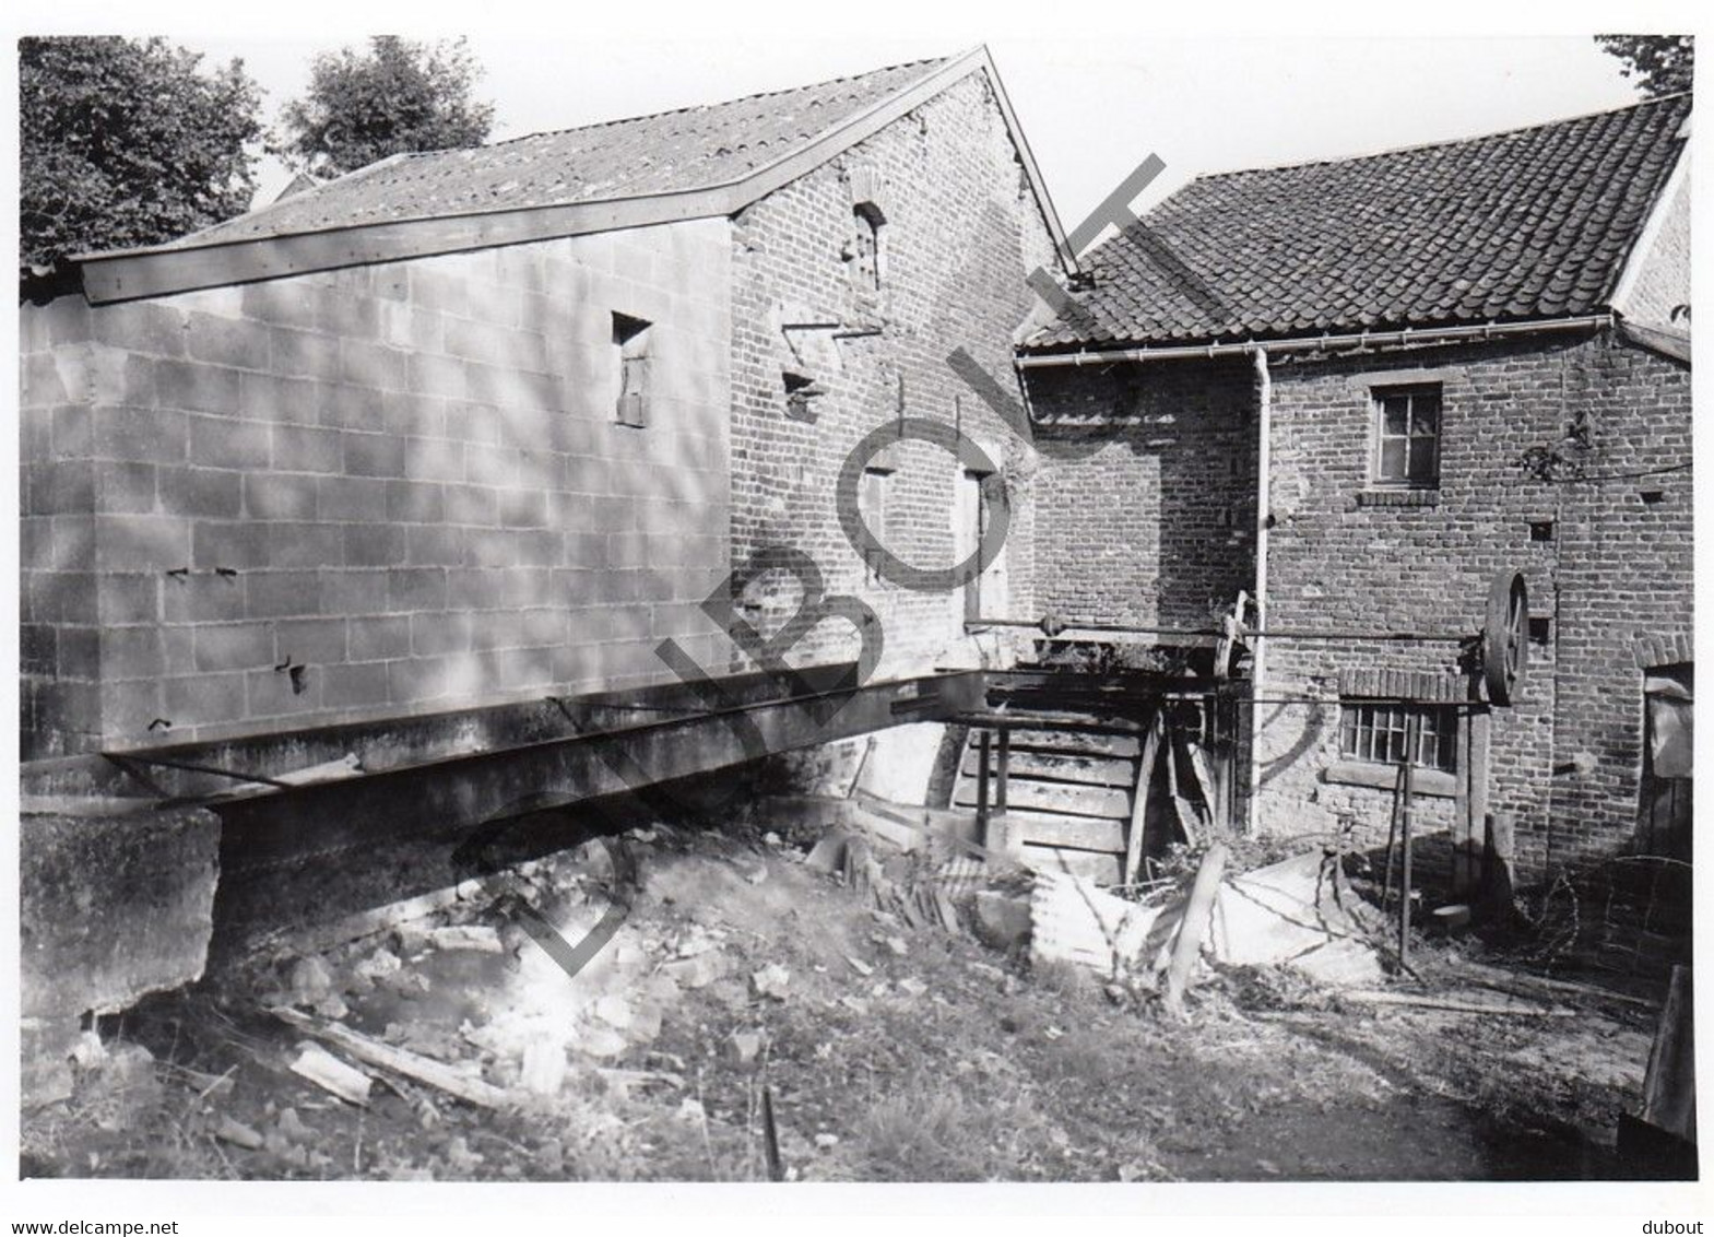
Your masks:
<svg viewBox="0 0 1714 1237"><path fill-rule="evenodd" d="M19 39L19 264L173 240L249 208L261 94L165 39Z"/></svg>

